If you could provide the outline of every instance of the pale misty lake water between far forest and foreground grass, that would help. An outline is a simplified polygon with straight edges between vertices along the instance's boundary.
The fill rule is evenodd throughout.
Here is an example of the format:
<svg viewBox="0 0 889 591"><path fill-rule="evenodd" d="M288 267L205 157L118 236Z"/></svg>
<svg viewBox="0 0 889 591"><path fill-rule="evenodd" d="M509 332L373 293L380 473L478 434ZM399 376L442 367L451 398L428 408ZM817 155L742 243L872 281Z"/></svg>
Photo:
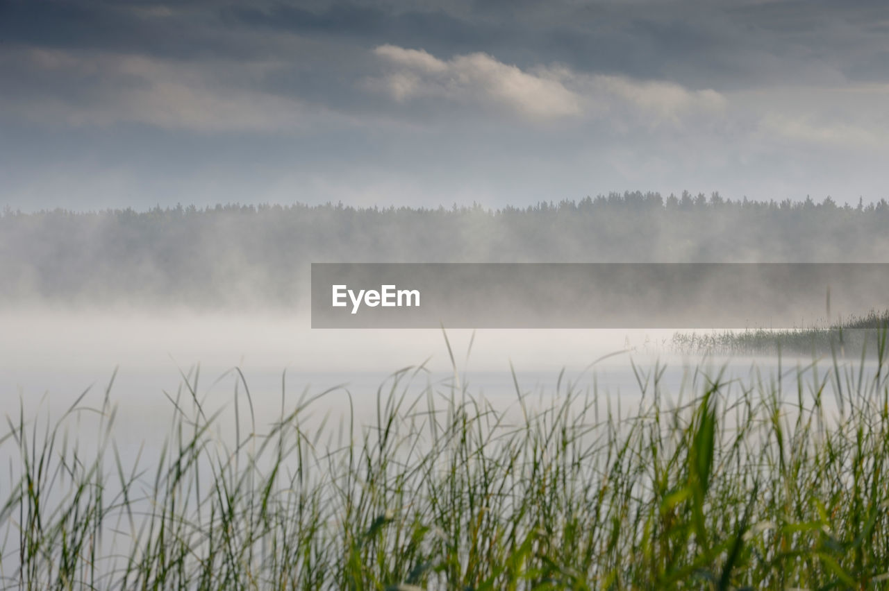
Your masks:
<svg viewBox="0 0 889 591"><path fill-rule="evenodd" d="M375 417L378 389L387 391L388 376L405 366L424 366L411 382L410 396L428 389L446 396L457 384L495 407L517 401L511 368L519 390L541 400L556 391L564 369L563 390L568 382L578 390L595 388L627 412L640 393L634 363L643 373L666 365L661 388L669 395L699 391L704 374L716 375L720 368L727 379L747 380L758 371L767 382L777 374L777 359L671 353L671 330L455 330L448 331L446 342L440 330L312 330L304 317L101 311L10 313L0 315L0 327L5 415L18 417L22 406L26 417L38 411L58 417L86 389L91 391L83 406L100 406L116 369L110 397L118 405L116 438L122 445L143 440L150 445L166 434L173 410L167 395L175 398L183 375L193 379L198 367L196 390L207 410L233 408L236 385L240 404L246 404L233 368L241 370L259 430L280 415L282 391L290 409L301 395L334 386L340 388L316 402L314 413L341 415L350 401L358 421L368 422ZM589 367L610 353L616 354ZM783 359L782 368L793 378L794 367L810 362ZM857 367L851 361L845 365ZM822 361L822 372L829 366L829 360ZM704 374L695 377L698 369ZM80 435L90 437L90 432Z"/></svg>

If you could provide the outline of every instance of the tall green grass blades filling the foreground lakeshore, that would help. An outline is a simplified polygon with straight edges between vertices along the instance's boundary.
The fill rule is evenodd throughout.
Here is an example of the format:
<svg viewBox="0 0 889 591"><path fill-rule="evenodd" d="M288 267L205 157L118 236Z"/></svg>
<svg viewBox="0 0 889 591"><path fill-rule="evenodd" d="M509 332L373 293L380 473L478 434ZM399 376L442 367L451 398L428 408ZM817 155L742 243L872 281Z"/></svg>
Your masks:
<svg viewBox="0 0 889 591"><path fill-rule="evenodd" d="M546 398L517 381L502 408L456 371L453 386L430 386L419 367L380 388L371 417L313 416L326 392L260 431L241 375L231 445L188 374L163 450L132 461L108 393L97 414L85 398L56 422L20 413L0 441L14 459L0 480L2 583L885 588L885 333L881 343L868 370L862 356L746 381L699 372L678 392L662 366L634 366L642 402L630 414L563 375ZM66 435L84 414L100 425L92 443Z"/></svg>

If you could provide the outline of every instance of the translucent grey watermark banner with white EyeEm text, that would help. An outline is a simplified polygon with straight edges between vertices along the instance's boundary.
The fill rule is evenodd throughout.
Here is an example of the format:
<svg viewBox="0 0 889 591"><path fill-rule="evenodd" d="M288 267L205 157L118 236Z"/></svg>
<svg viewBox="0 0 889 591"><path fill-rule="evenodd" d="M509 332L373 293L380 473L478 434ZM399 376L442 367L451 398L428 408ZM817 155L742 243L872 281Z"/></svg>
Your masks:
<svg viewBox="0 0 889 591"><path fill-rule="evenodd" d="M313 328L791 328L889 308L889 264L313 263Z"/></svg>

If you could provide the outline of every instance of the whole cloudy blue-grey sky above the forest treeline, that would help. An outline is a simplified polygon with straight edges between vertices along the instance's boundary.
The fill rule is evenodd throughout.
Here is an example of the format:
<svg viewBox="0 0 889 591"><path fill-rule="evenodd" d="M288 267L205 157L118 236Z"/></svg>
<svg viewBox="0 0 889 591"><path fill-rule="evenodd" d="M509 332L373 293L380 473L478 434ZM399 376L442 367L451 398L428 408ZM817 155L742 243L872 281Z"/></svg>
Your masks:
<svg viewBox="0 0 889 591"><path fill-rule="evenodd" d="M883 0L0 0L0 207L889 198Z"/></svg>

